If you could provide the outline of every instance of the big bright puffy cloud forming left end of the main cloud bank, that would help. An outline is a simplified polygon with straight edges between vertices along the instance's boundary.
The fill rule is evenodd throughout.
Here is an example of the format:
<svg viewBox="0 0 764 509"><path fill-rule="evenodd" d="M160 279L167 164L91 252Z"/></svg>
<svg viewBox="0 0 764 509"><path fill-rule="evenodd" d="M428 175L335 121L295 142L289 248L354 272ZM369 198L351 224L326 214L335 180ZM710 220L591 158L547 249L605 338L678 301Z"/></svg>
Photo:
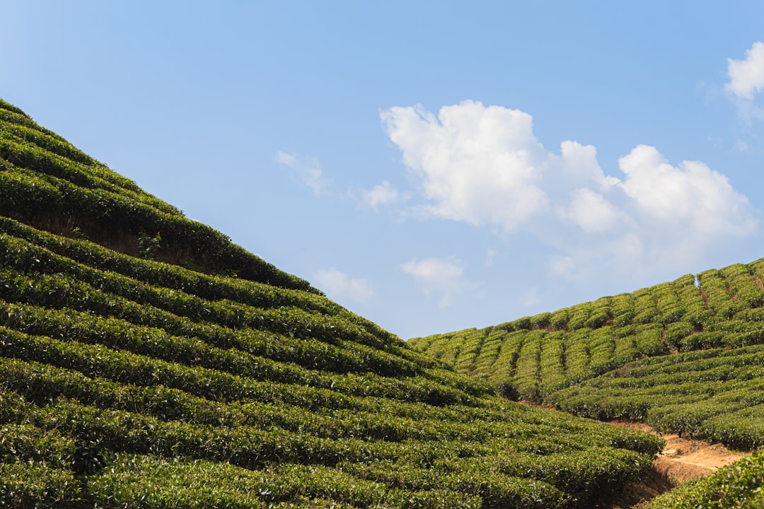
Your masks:
<svg viewBox="0 0 764 509"><path fill-rule="evenodd" d="M514 230L545 208L537 185L545 151L529 114L464 101L444 106L437 119L421 107L390 108L380 118L421 179L433 216Z"/></svg>

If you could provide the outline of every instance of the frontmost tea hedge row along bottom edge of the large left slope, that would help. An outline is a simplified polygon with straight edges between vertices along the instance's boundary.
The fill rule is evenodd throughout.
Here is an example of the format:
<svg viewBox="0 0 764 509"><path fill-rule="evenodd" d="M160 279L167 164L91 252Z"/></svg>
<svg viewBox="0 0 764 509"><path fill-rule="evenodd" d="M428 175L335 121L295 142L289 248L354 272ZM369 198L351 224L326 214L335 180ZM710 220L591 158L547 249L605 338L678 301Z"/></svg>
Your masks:
<svg viewBox="0 0 764 509"><path fill-rule="evenodd" d="M99 507L481 507L445 490L403 491L324 466L274 463L247 470L205 460L121 455L89 491ZM137 505L134 505L138 501Z"/></svg>

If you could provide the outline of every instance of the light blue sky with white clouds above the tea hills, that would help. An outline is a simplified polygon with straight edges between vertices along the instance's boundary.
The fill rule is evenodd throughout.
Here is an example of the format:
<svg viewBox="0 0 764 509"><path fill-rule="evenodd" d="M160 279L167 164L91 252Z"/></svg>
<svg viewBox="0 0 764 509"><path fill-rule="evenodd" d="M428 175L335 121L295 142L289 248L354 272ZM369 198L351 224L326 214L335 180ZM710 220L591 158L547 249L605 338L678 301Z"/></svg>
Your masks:
<svg viewBox="0 0 764 509"><path fill-rule="evenodd" d="M764 256L760 2L2 19L0 97L403 338Z"/></svg>

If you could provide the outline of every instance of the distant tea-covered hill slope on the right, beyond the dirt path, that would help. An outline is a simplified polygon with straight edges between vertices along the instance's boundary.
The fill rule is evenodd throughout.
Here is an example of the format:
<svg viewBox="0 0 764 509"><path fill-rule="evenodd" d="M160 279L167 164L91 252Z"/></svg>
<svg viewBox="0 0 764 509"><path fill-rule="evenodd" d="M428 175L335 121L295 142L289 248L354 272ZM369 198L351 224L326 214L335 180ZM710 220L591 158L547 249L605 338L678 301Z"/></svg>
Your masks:
<svg viewBox="0 0 764 509"><path fill-rule="evenodd" d="M412 346L504 395L764 445L764 259Z"/></svg>

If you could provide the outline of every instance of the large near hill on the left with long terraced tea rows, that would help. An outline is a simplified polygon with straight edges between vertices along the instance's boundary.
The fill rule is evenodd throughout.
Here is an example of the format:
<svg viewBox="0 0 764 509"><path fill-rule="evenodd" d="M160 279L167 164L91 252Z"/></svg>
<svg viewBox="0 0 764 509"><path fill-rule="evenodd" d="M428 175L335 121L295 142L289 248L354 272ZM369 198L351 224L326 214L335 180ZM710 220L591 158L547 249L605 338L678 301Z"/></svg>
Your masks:
<svg viewBox="0 0 764 509"><path fill-rule="evenodd" d="M0 506L590 507L661 445L497 397L0 101Z"/></svg>

